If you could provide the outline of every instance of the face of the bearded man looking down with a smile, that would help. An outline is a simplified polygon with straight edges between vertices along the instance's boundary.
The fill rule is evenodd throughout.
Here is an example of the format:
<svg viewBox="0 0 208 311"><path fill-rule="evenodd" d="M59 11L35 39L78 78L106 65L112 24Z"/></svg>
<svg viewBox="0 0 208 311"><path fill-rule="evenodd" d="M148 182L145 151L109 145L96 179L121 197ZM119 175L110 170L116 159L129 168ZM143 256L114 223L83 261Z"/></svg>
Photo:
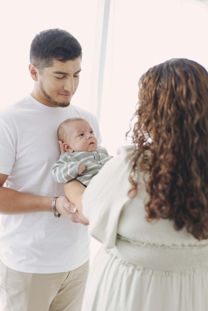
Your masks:
<svg viewBox="0 0 208 311"><path fill-rule="evenodd" d="M38 99L51 107L67 107L79 85L80 57L65 63L54 60L38 73Z"/></svg>

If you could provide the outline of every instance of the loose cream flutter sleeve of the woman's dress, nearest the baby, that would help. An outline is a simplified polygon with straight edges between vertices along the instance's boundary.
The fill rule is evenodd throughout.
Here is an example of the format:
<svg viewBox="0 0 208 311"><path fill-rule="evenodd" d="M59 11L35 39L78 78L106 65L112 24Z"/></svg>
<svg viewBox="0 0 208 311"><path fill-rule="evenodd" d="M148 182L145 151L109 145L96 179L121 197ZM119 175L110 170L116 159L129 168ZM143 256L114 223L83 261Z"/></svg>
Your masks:
<svg viewBox="0 0 208 311"><path fill-rule="evenodd" d="M83 214L89 219L89 233L107 248L114 247L121 211L130 202L127 193L132 152L132 146L120 148L118 155L93 177L83 195Z"/></svg>

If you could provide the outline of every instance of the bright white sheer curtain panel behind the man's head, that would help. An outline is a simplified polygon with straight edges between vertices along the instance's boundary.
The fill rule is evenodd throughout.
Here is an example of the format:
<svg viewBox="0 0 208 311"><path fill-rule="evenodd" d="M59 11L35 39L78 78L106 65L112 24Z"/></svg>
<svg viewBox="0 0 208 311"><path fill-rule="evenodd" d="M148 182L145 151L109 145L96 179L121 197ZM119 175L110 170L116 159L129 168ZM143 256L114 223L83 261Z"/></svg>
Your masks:
<svg viewBox="0 0 208 311"><path fill-rule="evenodd" d="M5 1L1 6L0 109L32 91L29 49L34 36L44 29L69 31L83 49L80 86L72 104L97 112L99 59L105 1L27 0Z"/></svg>

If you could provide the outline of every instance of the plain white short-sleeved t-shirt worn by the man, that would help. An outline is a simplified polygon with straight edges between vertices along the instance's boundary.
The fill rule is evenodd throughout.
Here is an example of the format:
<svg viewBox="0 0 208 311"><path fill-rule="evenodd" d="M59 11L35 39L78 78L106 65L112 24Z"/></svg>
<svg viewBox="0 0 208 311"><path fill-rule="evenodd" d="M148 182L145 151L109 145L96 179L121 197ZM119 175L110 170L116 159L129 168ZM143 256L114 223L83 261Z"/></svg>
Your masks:
<svg viewBox="0 0 208 311"><path fill-rule="evenodd" d="M67 118L85 118L101 143L93 114L70 104L53 108L31 95L0 111L0 173L5 187L22 193L64 195L52 167L59 159L57 128ZM14 203L15 204L15 203ZM30 273L66 272L89 259L87 226L50 212L0 215L0 260L11 269Z"/></svg>

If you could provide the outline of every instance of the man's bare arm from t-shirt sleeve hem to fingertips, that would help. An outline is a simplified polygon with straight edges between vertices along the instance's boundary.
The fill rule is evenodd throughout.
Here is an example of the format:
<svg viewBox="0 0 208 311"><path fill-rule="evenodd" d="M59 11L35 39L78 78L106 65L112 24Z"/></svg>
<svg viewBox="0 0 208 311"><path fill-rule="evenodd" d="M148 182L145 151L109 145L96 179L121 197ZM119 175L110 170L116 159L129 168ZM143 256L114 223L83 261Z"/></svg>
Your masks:
<svg viewBox="0 0 208 311"><path fill-rule="evenodd" d="M10 188L3 187L8 175L0 174L0 214L16 215L30 212L48 211L52 213L52 197L42 197L31 194L22 193ZM56 211L67 217L72 222L85 222L76 215L76 208L69 200L61 196L56 199Z"/></svg>

